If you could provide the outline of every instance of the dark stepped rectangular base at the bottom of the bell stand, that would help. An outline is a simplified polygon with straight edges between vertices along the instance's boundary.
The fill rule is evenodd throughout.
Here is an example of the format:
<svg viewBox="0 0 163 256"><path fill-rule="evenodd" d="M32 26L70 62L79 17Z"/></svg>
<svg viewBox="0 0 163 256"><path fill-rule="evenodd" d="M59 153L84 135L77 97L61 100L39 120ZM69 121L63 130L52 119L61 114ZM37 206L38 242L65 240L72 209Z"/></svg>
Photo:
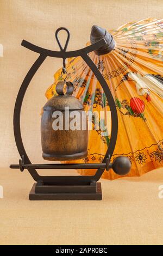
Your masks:
<svg viewBox="0 0 163 256"><path fill-rule="evenodd" d="M29 200L102 200L101 182L91 185L41 185L34 183Z"/></svg>

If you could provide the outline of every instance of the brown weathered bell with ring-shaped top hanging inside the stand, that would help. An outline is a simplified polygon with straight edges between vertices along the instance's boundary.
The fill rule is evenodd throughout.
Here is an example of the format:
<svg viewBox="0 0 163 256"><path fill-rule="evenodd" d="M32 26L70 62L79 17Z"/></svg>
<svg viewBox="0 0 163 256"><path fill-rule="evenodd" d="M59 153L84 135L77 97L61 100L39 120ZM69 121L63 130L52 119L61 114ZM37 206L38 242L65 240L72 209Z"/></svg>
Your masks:
<svg viewBox="0 0 163 256"><path fill-rule="evenodd" d="M58 82L58 95L54 95L43 107L41 144L45 160L76 160L87 155L86 113L82 102L72 96L73 90L71 82ZM73 126L75 114L78 119L76 126Z"/></svg>

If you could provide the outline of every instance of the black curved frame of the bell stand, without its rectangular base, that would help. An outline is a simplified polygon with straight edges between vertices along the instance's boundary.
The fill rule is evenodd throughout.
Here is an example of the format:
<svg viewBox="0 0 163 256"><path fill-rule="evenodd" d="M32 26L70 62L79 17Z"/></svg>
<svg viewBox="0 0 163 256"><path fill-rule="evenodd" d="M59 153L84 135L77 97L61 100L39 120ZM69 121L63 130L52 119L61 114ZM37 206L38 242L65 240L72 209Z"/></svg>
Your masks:
<svg viewBox="0 0 163 256"><path fill-rule="evenodd" d="M64 29L67 31L66 28L59 28L56 32L56 34L61 30ZM69 33L69 32L67 32ZM55 34L55 35L56 35ZM70 34L69 34L70 37ZM69 38L67 37L67 40ZM66 41L66 44L68 42ZM55 184L55 185L81 185L81 186L89 186L91 184L95 184L102 176L105 168L109 170L111 168L110 163L110 157L112 156L112 153L115 148L116 139L117 139L117 131L118 131L118 118L117 118L117 111L116 106L114 102L114 98L112 97L112 94L110 92L110 89L108 87L108 84L104 80L104 77L102 76L101 72L98 70L97 66L91 58L88 56L88 53L97 50L98 48L104 46L106 44L105 39L101 39L98 42L96 42L93 45L87 46L85 48L82 48L77 51L66 51L67 45L65 45L65 48L60 48L61 51L51 51L47 50L45 48L41 48L39 46L33 45L30 42L23 40L22 46L28 48L29 50L33 52L37 52L40 54L40 56L36 59L33 66L28 71L26 77L24 78L20 90L18 92L16 102L15 102L15 108L14 108L14 136L15 136L15 142L17 145L18 153L22 157L22 160L20 160L20 164L11 164L10 168L20 168L23 170L24 168L28 169L28 172L30 175L32 175L33 179L37 182L43 182L43 184ZM32 80L33 76L35 75L36 71L40 68L43 61L46 59L46 57L56 57L56 58L62 58L65 62L66 58L70 57L77 57L81 56L86 64L89 66L89 68L92 70L92 72L95 74L97 80L101 84L104 93L106 95L106 98L108 99L110 111L111 111L111 138L108 150L106 151L105 157L103 159L102 163L82 163L82 164L32 164L29 160L29 157L26 153L26 150L24 149L24 145L22 142L22 136L21 136L21 127L20 127L20 114L21 114L21 107L24 95L26 93L26 90L29 86L30 81ZM64 72L64 70L63 70ZM36 169L89 169L89 168L95 168L97 169L97 172L93 176L40 176Z"/></svg>

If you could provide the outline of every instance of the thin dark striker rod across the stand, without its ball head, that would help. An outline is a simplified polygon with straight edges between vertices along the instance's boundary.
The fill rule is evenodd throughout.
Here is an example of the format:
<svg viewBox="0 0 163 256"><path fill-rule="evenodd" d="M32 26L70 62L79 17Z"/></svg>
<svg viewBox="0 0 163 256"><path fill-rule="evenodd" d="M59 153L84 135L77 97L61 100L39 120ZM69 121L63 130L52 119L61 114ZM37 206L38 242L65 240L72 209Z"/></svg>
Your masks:
<svg viewBox="0 0 163 256"><path fill-rule="evenodd" d="M49 163L49 164L22 164L23 169L105 169L106 163ZM109 163L109 168L112 163ZM19 164L11 164L11 169L19 169Z"/></svg>

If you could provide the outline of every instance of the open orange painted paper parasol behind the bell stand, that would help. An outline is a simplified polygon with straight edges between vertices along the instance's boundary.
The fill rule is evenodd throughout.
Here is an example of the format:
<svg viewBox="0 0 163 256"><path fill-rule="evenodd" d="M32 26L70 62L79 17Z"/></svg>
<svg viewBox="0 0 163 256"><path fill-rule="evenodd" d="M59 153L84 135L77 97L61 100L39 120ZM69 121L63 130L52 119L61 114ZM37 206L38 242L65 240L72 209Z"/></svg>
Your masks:
<svg viewBox="0 0 163 256"><path fill-rule="evenodd" d="M90 57L104 76L114 96L118 113L118 137L112 160L123 155L131 161L127 176L140 176L163 166L163 20L145 19L128 23L107 32L93 26L91 42L102 37L104 48L91 52ZM74 96L82 100L85 110L103 111L100 123L107 130L89 131L89 154L78 162L102 162L108 148L111 117L103 89L92 71L80 57L68 59L68 80L74 84ZM55 94L55 84L61 80L61 69L46 97ZM96 170L80 170L92 175ZM103 178L119 178L112 170Z"/></svg>

